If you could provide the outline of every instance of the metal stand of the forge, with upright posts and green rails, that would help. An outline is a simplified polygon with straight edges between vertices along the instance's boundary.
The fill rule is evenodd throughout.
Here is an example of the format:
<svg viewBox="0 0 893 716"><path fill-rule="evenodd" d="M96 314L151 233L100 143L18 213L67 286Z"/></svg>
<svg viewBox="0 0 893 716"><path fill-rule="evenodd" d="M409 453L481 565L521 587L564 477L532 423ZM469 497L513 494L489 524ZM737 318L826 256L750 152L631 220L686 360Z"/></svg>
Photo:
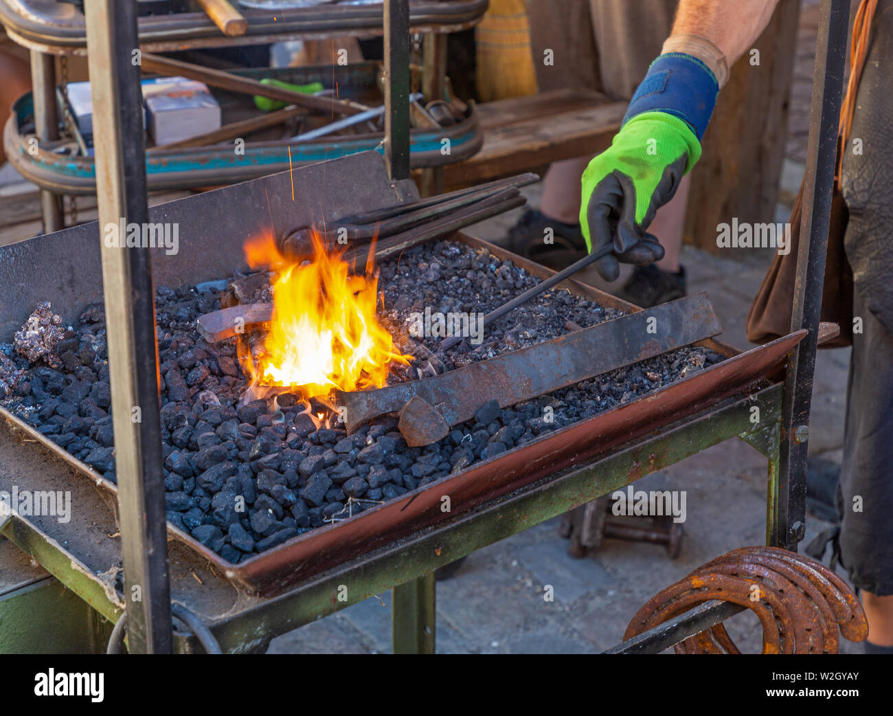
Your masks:
<svg viewBox="0 0 893 716"><path fill-rule="evenodd" d="M209 624L210 632L195 623L190 625L191 633L171 632L171 584L182 590L192 579L184 577L184 565L193 570L196 579L197 570L204 580L202 587L188 582L199 604L213 604L221 595L231 598L232 586L221 575L203 571L199 562L190 561L181 545L169 545L165 534L149 249L104 250L129 651L199 652L200 641L207 643L210 633L224 653L263 651L271 637L393 587L394 652L433 653L433 573L445 563L442 554L448 555L449 560L471 554L735 436L747 440L768 459L767 542L796 550L804 537L807 426L848 7L848 0L822 0L804 189L808 211L804 212L797 255L791 323L791 333L798 329L808 333L789 356L783 385L775 383L750 395L726 400L689 420L657 429L594 462L584 461L555 478L541 480L441 526L360 554L352 562L275 598L240 596L238 608ZM105 137L96 146L99 225L107 221L117 223L122 217L128 222L146 221L139 68L130 63L129 52L129 48L137 46L135 3L90 0L87 8L94 121L101 129L98 136ZM407 0L386 0L385 21L389 83L386 157L390 177L396 180L409 176ZM753 405L759 406L762 414L758 425L750 421ZM141 409L140 422L130 420L134 406ZM0 457L6 464L21 464L18 474L26 475L28 470L63 470L64 466L51 464L46 456L38 456L29 445L23 445L25 441L9 439L8 435L5 431L0 434ZM71 484L72 488L76 485L74 481ZM96 495L79 494L79 500L79 509L91 504L96 504L97 511L103 509ZM34 623L38 615L50 610L54 616L52 635L41 636L46 632L42 625L36 625L39 629L0 630L0 651L102 651L109 621L121 618L120 597L111 593L108 581L104 581L108 575L79 568L67 556L68 547L47 539L28 520L0 520L0 534L9 540L0 541L0 564L4 566L0 570L0 617L15 619L19 615L23 623ZM52 577L37 565L46 568ZM350 597L337 602L332 595L346 582L350 584ZM609 651L660 652L739 611L741 607L734 604L703 604Z"/></svg>

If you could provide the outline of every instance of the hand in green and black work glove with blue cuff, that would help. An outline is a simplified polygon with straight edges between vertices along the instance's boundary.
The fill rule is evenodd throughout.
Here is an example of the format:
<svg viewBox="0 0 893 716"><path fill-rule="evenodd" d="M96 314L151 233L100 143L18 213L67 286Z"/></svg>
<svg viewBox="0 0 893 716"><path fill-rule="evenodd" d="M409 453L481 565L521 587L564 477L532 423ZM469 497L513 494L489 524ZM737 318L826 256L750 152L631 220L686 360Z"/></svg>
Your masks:
<svg viewBox="0 0 893 716"><path fill-rule="evenodd" d="M613 243L613 254L597 263L605 280L617 279L618 261L663 258L663 246L646 229L700 159L718 92L704 62L690 54L660 55L632 96L611 146L589 162L580 227L590 253Z"/></svg>

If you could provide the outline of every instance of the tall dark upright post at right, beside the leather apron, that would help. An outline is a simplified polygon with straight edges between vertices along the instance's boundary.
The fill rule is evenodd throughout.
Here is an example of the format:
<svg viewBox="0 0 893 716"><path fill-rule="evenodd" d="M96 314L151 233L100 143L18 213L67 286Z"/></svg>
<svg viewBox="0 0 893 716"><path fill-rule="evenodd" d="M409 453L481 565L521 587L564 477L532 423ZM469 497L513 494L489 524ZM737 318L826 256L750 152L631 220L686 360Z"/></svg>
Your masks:
<svg viewBox="0 0 893 716"><path fill-rule="evenodd" d="M805 537L809 413L828 252L848 24L849 0L822 0L806 150L804 212L791 312L791 329L806 329L808 334L790 354L785 372L778 508L776 519L772 520L772 545L789 549L797 549L797 543Z"/></svg>

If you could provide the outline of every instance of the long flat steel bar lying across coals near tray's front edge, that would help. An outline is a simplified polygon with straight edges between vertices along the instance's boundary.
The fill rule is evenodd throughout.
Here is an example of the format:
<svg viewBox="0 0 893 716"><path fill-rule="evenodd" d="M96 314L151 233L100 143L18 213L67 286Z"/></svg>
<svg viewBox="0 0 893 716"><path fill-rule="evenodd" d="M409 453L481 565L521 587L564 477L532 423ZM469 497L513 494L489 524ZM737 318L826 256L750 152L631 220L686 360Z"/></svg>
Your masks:
<svg viewBox="0 0 893 716"><path fill-rule="evenodd" d="M447 425L455 425L471 420L491 400L500 407L521 403L720 332L706 294L695 294L443 375L341 393L338 402L345 408L348 434L383 413L402 410L416 395L435 408ZM439 421L433 420L416 426L413 440L429 445L440 439L436 437L440 432ZM429 442L422 443L423 439Z"/></svg>

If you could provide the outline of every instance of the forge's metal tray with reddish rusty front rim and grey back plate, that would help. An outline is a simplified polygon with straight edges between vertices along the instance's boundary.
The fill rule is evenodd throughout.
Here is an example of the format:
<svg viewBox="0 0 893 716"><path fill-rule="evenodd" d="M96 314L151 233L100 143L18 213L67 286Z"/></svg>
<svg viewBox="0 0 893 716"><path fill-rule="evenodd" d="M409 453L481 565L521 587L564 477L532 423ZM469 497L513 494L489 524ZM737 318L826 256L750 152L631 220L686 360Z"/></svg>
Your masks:
<svg viewBox="0 0 893 716"><path fill-rule="evenodd" d="M417 197L412 182L388 182L384 162L374 153L313 164L294 171L293 178L294 202L288 172L282 172L150 208L150 221L179 222L181 237L179 254L156 255L156 284L195 284L229 275L232 266L241 262L245 239L260 231L271 230L278 236L291 227L318 222L322 215L333 221L360 209L392 206ZM208 229L211 226L226 230L214 234ZM470 246L486 247L497 257L511 258L516 265L540 277L551 273L480 239L462 233L453 238ZM54 311L64 321L71 321L85 304L101 300L99 251L96 222L0 247L0 340L9 340L39 301L50 300ZM635 306L577 281L569 280L562 286L599 304L638 311ZM800 331L745 353L714 340L703 341L698 345L729 356L728 360L629 404L476 463L468 470L415 489L352 519L313 529L238 565L223 561L170 524L169 534L247 592L277 595L290 585L368 554L376 547L471 512L538 479L592 462L620 445L692 418L732 395L767 387L768 377L780 368L804 335L805 331ZM26 439L52 451L74 468L72 474L97 485L113 501L116 487L112 482L11 413L0 409L0 414L5 418L0 421L0 429L11 434L24 430L29 435ZM661 458L653 455L650 459L659 463ZM640 465L638 470L645 474L649 468ZM9 472L0 468L0 487ZM635 479L637 475L630 477ZM452 510L448 515L440 510L442 495L450 496Z"/></svg>

